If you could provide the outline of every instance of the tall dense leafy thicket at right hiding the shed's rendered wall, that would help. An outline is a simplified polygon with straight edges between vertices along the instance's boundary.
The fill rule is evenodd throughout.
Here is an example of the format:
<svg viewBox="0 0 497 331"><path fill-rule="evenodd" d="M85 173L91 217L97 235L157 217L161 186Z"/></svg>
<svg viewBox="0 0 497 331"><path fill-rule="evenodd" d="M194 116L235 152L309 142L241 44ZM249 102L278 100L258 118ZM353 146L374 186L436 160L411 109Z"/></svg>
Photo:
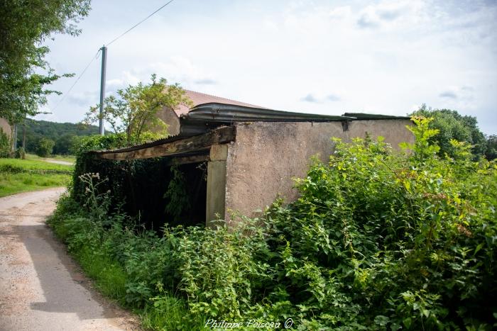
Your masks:
<svg viewBox="0 0 497 331"><path fill-rule="evenodd" d="M405 154L335 140L297 180L300 198L268 211L278 285L266 314L291 302L302 325L339 330L496 322L496 164L456 141L454 157L437 157L430 119L413 122Z"/></svg>

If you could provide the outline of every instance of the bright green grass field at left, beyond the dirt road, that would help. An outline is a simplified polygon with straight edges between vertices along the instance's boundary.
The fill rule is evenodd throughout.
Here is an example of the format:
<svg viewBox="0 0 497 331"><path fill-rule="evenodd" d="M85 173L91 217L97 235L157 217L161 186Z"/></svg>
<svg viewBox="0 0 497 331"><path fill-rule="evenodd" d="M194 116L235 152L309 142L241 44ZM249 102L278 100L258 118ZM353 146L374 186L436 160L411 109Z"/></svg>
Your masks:
<svg viewBox="0 0 497 331"><path fill-rule="evenodd" d="M66 186L73 167L34 159L0 159L0 197Z"/></svg>

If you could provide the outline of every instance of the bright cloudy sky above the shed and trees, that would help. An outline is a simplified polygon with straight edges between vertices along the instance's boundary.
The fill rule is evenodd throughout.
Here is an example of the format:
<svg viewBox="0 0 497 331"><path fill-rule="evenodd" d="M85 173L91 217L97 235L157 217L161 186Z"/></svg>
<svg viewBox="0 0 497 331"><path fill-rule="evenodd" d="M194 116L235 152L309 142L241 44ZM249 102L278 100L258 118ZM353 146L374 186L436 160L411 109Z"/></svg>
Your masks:
<svg viewBox="0 0 497 331"><path fill-rule="evenodd" d="M100 55L166 0L92 1L77 37L53 35L36 118L76 123L99 102ZM175 0L109 45L107 96L151 74L282 111L405 116L422 103L497 134L497 1Z"/></svg>

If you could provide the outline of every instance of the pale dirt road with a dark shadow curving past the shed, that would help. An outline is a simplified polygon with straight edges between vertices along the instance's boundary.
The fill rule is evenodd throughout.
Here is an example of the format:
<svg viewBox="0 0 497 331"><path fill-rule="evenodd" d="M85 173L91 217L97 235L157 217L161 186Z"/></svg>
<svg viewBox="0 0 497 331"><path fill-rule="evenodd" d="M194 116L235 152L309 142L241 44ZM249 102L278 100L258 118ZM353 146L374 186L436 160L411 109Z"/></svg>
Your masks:
<svg viewBox="0 0 497 331"><path fill-rule="evenodd" d="M0 198L0 330L138 330L90 286L45 225L64 189Z"/></svg>

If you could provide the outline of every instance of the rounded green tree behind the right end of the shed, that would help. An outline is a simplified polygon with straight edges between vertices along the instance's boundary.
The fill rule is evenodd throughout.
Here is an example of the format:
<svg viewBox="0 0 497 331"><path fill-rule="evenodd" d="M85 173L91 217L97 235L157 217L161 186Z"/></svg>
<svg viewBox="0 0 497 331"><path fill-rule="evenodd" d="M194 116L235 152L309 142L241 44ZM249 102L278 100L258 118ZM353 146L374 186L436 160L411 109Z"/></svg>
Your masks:
<svg viewBox="0 0 497 331"><path fill-rule="evenodd" d="M437 142L440 150L438 154L444 157L454 157L456 148L451 144L451 140L468 142L471 147L471 154L474 158L479 158L485 154L485 135L478 128L478 121L474 116L462 116L457 111L450 109L432 109L423 104L412 116L424 116L433 118L430 122L430 129L439 130L439 133L430 138L430 143Z"/></svg>

